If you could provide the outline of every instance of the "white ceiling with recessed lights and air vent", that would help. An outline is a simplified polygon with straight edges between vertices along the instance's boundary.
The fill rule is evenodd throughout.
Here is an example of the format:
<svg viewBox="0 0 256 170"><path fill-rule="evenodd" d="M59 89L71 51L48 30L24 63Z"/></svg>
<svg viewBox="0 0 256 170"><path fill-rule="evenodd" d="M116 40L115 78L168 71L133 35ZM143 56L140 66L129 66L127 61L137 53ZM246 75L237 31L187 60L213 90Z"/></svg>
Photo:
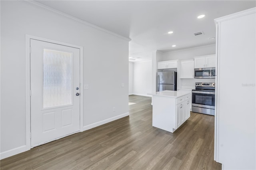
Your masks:
<svg viewBox="0 0 256 170"><path fill-rule="evenodd" d="M214 44L214 19L256 6L254 0L37 0L41 4L130 38L132 61L162 52ZM204 18L197 16L205 14ZM168 34L173 31L173 34ZM194 36L196 32L202 35ZM176 45L176 47L172 47Z"/></svg>

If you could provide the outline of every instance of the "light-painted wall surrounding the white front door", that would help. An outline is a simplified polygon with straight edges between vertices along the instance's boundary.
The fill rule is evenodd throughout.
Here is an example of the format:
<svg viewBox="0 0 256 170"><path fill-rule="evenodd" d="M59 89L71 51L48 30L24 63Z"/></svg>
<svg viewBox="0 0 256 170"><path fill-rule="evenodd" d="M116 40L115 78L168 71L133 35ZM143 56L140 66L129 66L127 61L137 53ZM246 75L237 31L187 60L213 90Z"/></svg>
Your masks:
<svg viewBox="0 0 256 170"><path fill-rule="evenodd" d="M26 34L84 47L84 130L128 115L127 40L25 1L1 1L1 158L26 145Z"/></svg>

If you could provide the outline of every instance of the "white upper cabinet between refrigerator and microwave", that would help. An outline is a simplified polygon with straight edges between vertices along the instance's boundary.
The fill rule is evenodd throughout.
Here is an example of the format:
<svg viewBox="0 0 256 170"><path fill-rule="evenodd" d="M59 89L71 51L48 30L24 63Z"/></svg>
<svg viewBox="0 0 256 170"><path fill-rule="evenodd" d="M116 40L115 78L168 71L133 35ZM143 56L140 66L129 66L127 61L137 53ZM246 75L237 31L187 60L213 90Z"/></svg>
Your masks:
<svg viewBox="0 0 256 170"><path fill-rule="evenodd" d="M192 61L181 61L181 79L194 78L194 60Z"/></svg>

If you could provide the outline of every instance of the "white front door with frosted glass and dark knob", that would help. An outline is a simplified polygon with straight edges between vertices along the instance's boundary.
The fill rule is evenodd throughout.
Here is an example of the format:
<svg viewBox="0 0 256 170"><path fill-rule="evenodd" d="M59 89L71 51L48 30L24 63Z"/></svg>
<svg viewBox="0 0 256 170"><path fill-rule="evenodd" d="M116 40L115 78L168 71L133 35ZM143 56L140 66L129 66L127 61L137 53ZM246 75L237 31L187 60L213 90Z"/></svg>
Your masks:
<svg viewBox="0 0 256 170"><path fill-rule="evenodd" d="M30 39L31 147L80 130L80 49Z"/></svg>

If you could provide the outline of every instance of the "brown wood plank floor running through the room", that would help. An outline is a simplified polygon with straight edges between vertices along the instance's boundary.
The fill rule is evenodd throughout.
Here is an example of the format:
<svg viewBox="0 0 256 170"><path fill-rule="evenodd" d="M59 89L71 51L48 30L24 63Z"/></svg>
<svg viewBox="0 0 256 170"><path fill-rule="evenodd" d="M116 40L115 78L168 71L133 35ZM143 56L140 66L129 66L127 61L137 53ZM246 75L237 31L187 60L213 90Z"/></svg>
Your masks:
<svg viewBox="0 0 256 170"><path fill-rule="evenodd" d="M174 133L152 127L150 97L131 95L130 116L1 160L28 170L220 170L214 161L214 117L191 113Z"/></svg>

